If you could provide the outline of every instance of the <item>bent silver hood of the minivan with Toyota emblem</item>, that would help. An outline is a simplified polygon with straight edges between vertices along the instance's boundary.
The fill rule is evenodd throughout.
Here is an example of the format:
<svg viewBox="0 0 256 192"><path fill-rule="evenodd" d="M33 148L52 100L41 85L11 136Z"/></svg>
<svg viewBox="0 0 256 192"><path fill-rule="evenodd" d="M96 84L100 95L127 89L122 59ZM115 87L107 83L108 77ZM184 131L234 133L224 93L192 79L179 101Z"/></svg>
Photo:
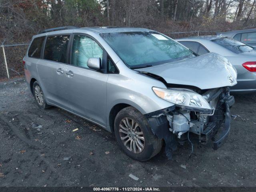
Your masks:
<svg viewBox="0 0 256 192"><path fill-rule="evenodd" d="M195 58L138 70L160 76L168 84L196 86L200 89L234 86L237 84L237 73L232 64L216 53L208 53Z"/></svg>

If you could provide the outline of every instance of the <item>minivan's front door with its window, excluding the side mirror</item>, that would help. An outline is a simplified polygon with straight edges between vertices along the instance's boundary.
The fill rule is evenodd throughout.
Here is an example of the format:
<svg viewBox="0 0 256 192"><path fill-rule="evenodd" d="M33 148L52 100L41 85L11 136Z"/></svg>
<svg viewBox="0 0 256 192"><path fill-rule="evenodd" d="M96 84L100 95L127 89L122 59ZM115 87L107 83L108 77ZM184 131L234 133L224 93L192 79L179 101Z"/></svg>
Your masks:
<svg viewBox="0 0 256 192"><path fill-rule="evenodd" d="M106 51L90 36L74 34L65 70L67 99L72 112L106 126L106 70L88 68L89 58L100 58L106 68Z"/></svg>

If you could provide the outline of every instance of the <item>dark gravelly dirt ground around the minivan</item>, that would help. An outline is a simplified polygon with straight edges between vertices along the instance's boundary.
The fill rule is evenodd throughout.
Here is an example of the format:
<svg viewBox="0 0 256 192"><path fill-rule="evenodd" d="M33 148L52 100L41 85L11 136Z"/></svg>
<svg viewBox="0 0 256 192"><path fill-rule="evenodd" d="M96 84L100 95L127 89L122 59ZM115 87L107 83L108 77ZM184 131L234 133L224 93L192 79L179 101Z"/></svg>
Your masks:
<svg viewBox="0 0 256 192"><path fill-rule="evenodd" d="M40 110L24 78L0 82L0 186L256 186L256 94L235 99L241 118L219 150L194 144L189 158L187 144L172 160L162 150L138 162L95 124Z"/></svg>

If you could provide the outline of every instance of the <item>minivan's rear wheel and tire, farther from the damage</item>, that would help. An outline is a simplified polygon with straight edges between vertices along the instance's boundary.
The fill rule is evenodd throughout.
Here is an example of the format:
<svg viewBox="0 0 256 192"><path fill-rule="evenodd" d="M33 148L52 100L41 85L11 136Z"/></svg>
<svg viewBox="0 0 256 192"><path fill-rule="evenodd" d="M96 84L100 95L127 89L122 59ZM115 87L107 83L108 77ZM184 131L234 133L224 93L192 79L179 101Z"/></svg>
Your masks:
<svg viewBox="0 0 256 192"><path fill-rule="evenodd" d="M36 104L40 109L47 109L51 107L46 103L42 88L40 87L37 81L35 81L33 84L33 95L34 99L36 100Z"/></svg>

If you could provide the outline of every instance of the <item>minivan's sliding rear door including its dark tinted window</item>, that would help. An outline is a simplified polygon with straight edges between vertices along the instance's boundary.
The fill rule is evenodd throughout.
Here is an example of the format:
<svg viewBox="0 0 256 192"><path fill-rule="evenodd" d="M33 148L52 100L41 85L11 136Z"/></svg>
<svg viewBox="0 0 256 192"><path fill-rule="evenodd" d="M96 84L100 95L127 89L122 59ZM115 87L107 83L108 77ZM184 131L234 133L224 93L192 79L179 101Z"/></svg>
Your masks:
<svg viewBox="0 0 256 192"><path fill-rule="evenodd" d="M65 109L69 109L65 85L69 39L70 34L48 36L43 59L37 64L40 85L47 102Z"/></svg>

